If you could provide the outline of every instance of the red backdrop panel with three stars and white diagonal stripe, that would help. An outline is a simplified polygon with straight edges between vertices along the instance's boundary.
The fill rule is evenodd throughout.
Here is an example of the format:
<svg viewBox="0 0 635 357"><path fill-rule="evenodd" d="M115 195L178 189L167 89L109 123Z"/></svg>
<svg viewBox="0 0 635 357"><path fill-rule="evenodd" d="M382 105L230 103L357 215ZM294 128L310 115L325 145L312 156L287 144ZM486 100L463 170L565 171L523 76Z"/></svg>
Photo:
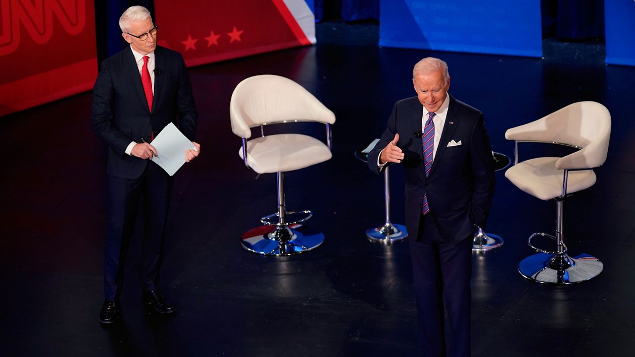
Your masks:
<svg viewBox="0 0 635 357"><path fill-rule="evenodd" d="M291 13L293 1L155 0L158 44L182 53L188 66L311 44L295 17L312 22L313 14L304 0L308 13Z"/></svg>

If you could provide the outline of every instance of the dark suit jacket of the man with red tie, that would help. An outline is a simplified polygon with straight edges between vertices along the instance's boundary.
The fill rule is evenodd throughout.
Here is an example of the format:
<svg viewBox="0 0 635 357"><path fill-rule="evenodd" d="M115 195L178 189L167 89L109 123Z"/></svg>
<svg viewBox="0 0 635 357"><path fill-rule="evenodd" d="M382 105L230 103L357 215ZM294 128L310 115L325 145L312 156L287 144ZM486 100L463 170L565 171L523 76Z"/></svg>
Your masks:
<svg viewBox="0 0 635 357"><path fill-rule="evenodd" d="M183 57L161 46L154 55L152 111L130 46L106 58L95 81L92 126L109 146L108 174L114 177L137 179L148 165L125 153L130 142L150 142L152 132L158 134L170 122L189 140L196 135L198 113Z"/></svg>

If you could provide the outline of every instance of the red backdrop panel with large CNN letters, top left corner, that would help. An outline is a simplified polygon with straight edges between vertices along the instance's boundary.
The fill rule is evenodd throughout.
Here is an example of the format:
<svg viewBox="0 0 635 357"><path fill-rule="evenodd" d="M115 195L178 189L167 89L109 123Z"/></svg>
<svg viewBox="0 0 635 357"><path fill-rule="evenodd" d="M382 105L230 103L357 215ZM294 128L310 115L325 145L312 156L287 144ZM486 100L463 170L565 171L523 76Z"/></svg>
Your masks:
<svg viewBox="0 0 635 357"><path fill-rule="evenodd" d="M0 0L0 116L90 90L92 0Z"/></svg>

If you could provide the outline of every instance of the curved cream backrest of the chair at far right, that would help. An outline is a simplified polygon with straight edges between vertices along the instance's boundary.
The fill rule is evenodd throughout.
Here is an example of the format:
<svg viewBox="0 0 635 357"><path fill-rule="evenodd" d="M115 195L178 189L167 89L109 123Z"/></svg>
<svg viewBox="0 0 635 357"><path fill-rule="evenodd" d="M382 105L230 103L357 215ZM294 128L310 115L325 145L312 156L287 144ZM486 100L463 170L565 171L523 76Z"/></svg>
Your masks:
<svg viewBox="0 0 635 357"><path fill-rule="evenodd" d="M611 114L597 102L573 103L505 132L507 140L556 142L583 148L556 164L559 169L601 166L606 160L610 135Z"/></svg>

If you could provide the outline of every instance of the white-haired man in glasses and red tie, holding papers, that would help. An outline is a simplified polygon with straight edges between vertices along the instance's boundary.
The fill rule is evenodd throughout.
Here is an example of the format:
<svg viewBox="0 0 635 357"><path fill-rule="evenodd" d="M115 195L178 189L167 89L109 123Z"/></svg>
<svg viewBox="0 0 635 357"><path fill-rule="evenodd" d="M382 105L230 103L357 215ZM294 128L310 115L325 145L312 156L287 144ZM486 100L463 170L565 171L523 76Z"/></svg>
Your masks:
<svg viewBox="0 0 635 357"><path fill-rule="evenodd" d="M198 113L185 62L180 53L157 46L157 26L143 6L132 6L119 19L130 44L102 62L93 93L93 131L108 145L108 210L104 259L105 300L101 323L119 318L124 262L142 199L144 262L142 301L158 313L170 314L159 288L164 232L172 178L152 162L161 155L148 144L169 123L194 140ZM196 150L184 152L185 161Z"/></svg>

